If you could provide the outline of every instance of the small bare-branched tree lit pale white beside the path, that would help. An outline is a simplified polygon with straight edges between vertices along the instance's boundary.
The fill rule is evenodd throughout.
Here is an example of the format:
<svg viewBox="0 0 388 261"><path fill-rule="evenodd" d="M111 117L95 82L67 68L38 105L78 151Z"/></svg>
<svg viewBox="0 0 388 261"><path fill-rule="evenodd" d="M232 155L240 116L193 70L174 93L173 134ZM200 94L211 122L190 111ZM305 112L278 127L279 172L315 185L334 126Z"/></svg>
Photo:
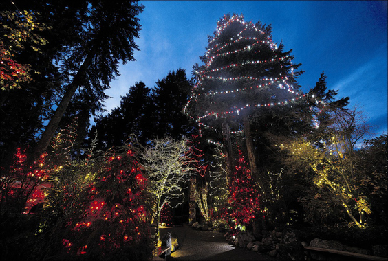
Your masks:
<svg viewBox="0 0 388 261"><path fill-rule="evenodd" d="M195 159L186 138L175 141L171 137L153 140L145 148L142 159L148 175L152 223L159 224L164 204L177 207L184 202L188 175L197 170L192 165Z"/></svg>

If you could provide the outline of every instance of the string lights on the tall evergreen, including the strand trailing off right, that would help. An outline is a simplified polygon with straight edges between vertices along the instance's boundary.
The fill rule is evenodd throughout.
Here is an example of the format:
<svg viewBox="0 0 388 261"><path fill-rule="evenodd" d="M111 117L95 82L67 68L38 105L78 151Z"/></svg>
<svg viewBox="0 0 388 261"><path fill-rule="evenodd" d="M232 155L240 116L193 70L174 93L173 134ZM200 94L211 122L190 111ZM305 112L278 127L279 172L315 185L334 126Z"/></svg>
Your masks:
<svg viewBox="0 0 388 261"><path fill-rule="evenodd" d="M225 30L228 30L230 25L232 24L240 24L241 30L235 35L228 39L221 38L224 36L223 32ZM234 27L235 28L235 27ZM250 35L245 35L245 34ZM255 34L255 35L254 35ZM222 40L220 40L222 39ZM219 41L219 43L217 43ZM222 41L222 42L221 42ZM242 43L244 46L239 46L234 50L229 50L229 47L237 46L237 43ZM228 63L224 66L217 66L214 67L213 64L215 61L219 58L225 58L226 56L230 56L232 54L242 54L244 52L244 57L247 56L248 52L252 52L253 54L257 54L257 52L261 52L261 49L258 50L261 45L267 45L270 47L270 50L272 51L272 57L268 57L263 60L242 60L241 63ZM226 49L229 48L229 49ZM272 43L272 39L270 34L266 35L265 32L258 30L255 24L251 22L244 22L244 19L242 16L233 15L231 17L224 16L223 19L221 19L217 23L217 29L215 32L215 36L211 38L209 41L208 49L205 53L204 58L206 59L205 66L203 69L195 71L197 82L195 83L192 93L188 99L188 102L186 102L184 106L184 113L191 117L191 119L195 120L199 126L200 129L200 135L202 135L202 128L208 128L215 132L218 132L217 129L209 126L209 124L206 124L206 121L213 120L217 118L235 118L239 117L241 113L246 109L261 109L266 107L273 107L273 106L292 106L293 103L297 102L306 102L309 104L310 98L306 97L305 94L303 94L301 91L297 91L294 89L293 85L290 83L290 76L294 73L294 66L292 65L292 56L285 54L284 56L279 57L279 53L277 52L277 46ZM226 50L226 51L224 51ZM252 56L257 57L257 56ZM230 58L229 58L230 59ZM290 75L279 75L279 77L255 77L254 75L251 76L222 76L222 72L225 71L233 71L233 69L237 67L243 67L244 65L257 65L257 64L264 64L264 63L274 63L277 61L285 61L285 66L288 66L290 70ZM218 63L218 62L217 62ZM284 65L283 65L284 66ZM241 82L244 82L246 80L247 82L255 81L258 82L258 84L252 85L250 87L245 87L241 84ZM210 82L215 81L215 82ZM219 82L219 83L217 83ZM241 84L241 87L237 87L237 84ZM217 89L213 90L207 90L208 86L218 86ZM230 89L222 89L222 87L235 87ZM192 106L192 104L197 104L200 99L206 99L212 98L211 104L216 104L213 101L217 101L217 99L226 100L228 97L230 97L230 100L235 100L237 93L249 93L249 91L254 91L255 89L263 89L263 91L266 91L267 89L279 89L283 90L284 93L288 93L294 97L290 97L287 99L281 99L276 100L277 95L272 95L271 98L268 98L268 101L261 101L261 102L248 102L247 104L243 106L233 106L228 105L229 109L227 110L219 110L219 109L208 109L208 111L204 111L204 113L201 115L191 115L191 113L188 111L188 107ZM222 98L221 96L225 96ZM205 98L206 97L206 98ZM312 97L314 98L314 97ZM316 104L323 104L322 109L319 111L316 111L312 114L312 124L319 128L319 120L318 117L323 111L323 107L325 106L324 102L321 102L314 98ZM204 108L202 106L202 108ZM203 110L203 109L202 109ZM310 106L310 111L312 112L312 106ZM230 130L231 133L241 133L241 130ZM211 144L216 144L217 146L222 146L217 141L212 141L211 139L208 139L208 142Z"/></svg>

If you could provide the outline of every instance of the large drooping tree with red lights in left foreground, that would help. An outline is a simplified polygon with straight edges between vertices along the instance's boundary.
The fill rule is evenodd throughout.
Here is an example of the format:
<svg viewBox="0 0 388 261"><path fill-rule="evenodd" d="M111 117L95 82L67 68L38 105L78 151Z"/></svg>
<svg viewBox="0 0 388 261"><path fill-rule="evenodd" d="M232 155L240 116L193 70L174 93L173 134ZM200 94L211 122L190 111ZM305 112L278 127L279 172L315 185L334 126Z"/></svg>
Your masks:
<svg viewBox="0 0 388 261"><path fill-rule="evenodd" d="M50 176L39 233L44 256L147 260L151 255L142 167L133 144L111 148Z"/></svg>

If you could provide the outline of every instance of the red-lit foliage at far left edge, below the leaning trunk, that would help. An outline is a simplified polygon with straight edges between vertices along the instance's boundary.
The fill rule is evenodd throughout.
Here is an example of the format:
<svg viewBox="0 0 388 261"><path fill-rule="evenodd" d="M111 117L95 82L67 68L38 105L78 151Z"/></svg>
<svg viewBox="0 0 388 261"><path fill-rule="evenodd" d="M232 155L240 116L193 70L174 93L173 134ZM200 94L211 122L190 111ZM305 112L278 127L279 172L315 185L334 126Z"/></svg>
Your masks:
<svg viewBox="0 0 388 261"><path fill-rule="evenodd" d="M23 209L23 213L28 213L36 203L43 202L42 188L50 187L48 177L70 163L70 149L77 136L76 126L74 119L56 135L48 153L41 155L32 165L27 161L25 150L18 148L14 164L10 168L2 166L0 194L3 211L21 212Z"/></svg>

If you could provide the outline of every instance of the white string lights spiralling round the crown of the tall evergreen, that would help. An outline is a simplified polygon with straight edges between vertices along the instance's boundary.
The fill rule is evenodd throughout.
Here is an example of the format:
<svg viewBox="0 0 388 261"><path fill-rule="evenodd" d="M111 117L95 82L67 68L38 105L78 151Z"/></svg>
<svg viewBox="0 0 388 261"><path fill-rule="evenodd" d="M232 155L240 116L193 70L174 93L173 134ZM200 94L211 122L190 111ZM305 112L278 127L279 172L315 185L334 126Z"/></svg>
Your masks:
<svg viewBox="0 0 388 261"><path fill-rule="evenodd" d="M239 23L241 25L241 30L234 36L231 36L229 39L224 39L222 37L222 33L230 27L233 23ZM197 74L197 82L195 86L193 87L193 92L191 94L191 97L188 99L188 102L184 106L184 112L188 114L189 117L193 118L200 126L200 133L201 133L201 126L208 127L207 124L204 124L202 122L206 118L209 117L239 117L241 111L244 111L248 108L256 108L259 109L261 107L270 107L270 106L285 106L290 104L291 102L297 102L301 98L303 98L305 95L299 94L298 91L294 89L292 84L290 84L289 76L278 76L278 77L257 77L253 74L251 75L235 75L235 76L223 76L221 73L228 73L233 75L233 71L236 67L242 67L245 65L257 65L257 64L263 64L263 63L274 63L277 61L287 61L286 66L290 66L290 74L293 73L294 68L292 67L292 57L288 54L285 54L283 57L278 57L277 53L277 47L272 43L272 39L270 37L270 34L265 35L265 32L259 30L259 34L256 33L256 35L252 35L250 33L255 34L257 32L257 27L249 22L244 22L244 19L242 16L233 15L232 17L224 16L223 19L221 19L217 23L217 30L215 32L215 36L209 41L209 46L205 54L206 58L206 65L203 69L200 69L196 71ZM245 32L247 32L248 36L244 35ZM222 39L222 42L221 40ZM220 43L217 43L219 41ZM244 42L241 42L244 41ZM236 48L235 50L226 50L226 52L223 52L226 47L233 47L237 43L242 43L241 47ZM257 59L252 58L248 60L241 60L239 63L228 63L224 66L217 66L212 67L213 63L215 63L215 60L217 60L217 63L221 63L222 60L218 61L219 59L215 59L216 57L225 57L230 54L239 54L240 52L252 52L252 57L257 57L258 52L261 51L261 49L257 49L257 47L260 48L260 46L257 45L268 45L270 47L270 52L272 52L271 56L266 59ZM236 45L237 46L237 45ZM246 57L246 54L244 54ZM288 69L286 69L288 70ZM250 73L252 73L252 68L250 69ZM216 73L216 75L214 75ZM219 87L222 87L224 82L230 82L228 84L228 87L233 86L233 84L236 85L237 88L230 89L230 90L206 90L208 81L206 80L215 80L219 81ZM256 81L259 82L255 85L252 85L251 87L246 87L244 84L246 84L246 80L249 81ZM212 82L210 86L216 85L216 82ZM254 91L255 89L259 88L269 88L271 89L284 89L287 91L287 93L290 93L294 95L294 97L287 98L285 100L274 100L273 98L276 97L274 94L272 94L272 99L268 98L268 102L249 102L248 104L245 104L244 106L233 106L228 105L230 109L225 111L217 111L216 109L208 109L206 111L206 108L202 108L203 114L202 115L195 115L193 117L188 113L188 106L191 106L193 102L197 103L200 98L203 96L214 96L214 99L217 99L217 95L233 95L241 92L248 92L248 91ZM236 99L235 96L233 96L232 99ZM225 100L225 98L224 98ZM215 104L217 102L211 102L211 104ZM210 118L209 118L210 120ZM238 132L234 131L234 132ZM215 143L217 144L217 143Z"/></svg>

